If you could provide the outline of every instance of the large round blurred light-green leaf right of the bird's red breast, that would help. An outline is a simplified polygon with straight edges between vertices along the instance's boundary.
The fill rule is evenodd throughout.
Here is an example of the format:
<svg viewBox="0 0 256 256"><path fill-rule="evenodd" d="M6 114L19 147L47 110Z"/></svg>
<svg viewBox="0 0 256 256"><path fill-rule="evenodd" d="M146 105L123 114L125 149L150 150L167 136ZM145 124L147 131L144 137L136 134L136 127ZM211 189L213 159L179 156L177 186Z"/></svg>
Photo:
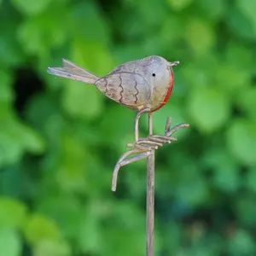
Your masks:
<svg viewBox="0 0 256 256"><path fill-rule="evenodd" d="M230 117L229 99L214 88L196 88L189 96L188 112L200 131L220 129Z"/></svg>

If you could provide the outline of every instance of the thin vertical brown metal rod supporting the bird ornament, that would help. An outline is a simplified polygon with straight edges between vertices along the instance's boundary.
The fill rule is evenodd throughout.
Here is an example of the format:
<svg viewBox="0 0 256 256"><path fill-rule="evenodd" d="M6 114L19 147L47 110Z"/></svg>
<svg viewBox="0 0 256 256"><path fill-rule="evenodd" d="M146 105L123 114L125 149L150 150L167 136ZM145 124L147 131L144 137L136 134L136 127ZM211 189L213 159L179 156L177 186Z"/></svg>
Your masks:
<svg viewBox="0 0 256 256"><path fill-rule="evenodd" d="M148 113L149 135L152 135L152 113ZM154 150L147 158L147 256L154 256Z"/></svg>

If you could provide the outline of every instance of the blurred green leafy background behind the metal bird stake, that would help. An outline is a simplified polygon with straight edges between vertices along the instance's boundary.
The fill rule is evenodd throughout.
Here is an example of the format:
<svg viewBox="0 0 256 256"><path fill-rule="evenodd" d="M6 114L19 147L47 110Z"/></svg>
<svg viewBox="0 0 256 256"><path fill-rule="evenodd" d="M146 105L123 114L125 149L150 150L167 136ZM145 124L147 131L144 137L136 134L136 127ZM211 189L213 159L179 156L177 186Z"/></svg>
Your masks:
<svg viewBox="0 0 256 256"><path fill-rule="evenodd" d="M181 61L154 133L155 255L256 255L255 0L0 0L0 255L145 255L145 160L113 166L135 113L50 76ZM147 118L141 123L147 132Z"/></svg>

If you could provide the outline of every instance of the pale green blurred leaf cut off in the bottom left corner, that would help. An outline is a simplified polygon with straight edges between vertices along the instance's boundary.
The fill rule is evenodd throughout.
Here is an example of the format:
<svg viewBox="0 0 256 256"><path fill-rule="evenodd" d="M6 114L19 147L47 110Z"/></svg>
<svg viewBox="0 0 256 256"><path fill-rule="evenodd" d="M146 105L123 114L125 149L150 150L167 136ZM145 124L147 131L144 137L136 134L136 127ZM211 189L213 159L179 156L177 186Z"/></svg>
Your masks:
<svg viewBox="0 0 256 256"><path fill-rule="evenodd" d="M22 243L15 230L0 228L0 248L6 256L20 256Z"/></svg>

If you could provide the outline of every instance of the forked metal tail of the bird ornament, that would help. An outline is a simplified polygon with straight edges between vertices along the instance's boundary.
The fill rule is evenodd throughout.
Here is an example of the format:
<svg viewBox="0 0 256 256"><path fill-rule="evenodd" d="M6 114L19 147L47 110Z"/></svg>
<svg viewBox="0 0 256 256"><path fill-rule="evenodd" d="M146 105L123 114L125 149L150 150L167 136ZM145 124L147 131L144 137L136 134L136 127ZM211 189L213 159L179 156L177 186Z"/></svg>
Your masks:
<svg viewBox="0 0 256 256"><path fill-rule="evenodd" d="M48 67L47 72L58 77L73 79L86 84L95 84L96 80L100 79L100 77L65 59L62 59L62 67Z"/></svg>

